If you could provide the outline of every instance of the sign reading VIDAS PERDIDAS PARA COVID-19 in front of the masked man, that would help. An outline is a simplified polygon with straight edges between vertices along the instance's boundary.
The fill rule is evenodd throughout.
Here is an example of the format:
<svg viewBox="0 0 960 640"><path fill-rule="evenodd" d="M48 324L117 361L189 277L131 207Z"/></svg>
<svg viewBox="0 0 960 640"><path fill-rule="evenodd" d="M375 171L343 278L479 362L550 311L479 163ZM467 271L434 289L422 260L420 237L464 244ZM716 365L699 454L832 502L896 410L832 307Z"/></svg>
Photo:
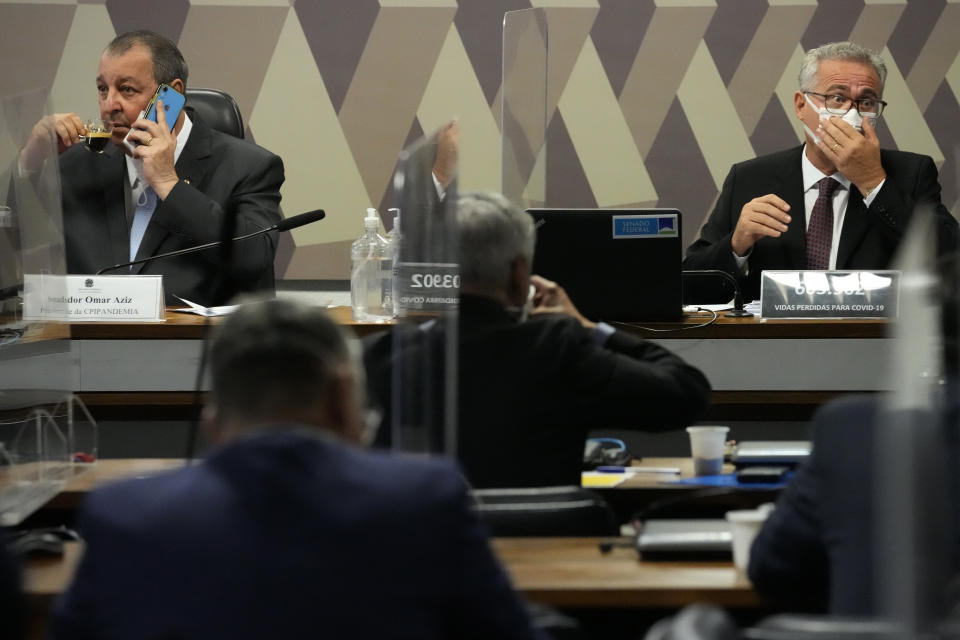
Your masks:
<svg viewBox="0 0 960 640"><path fill-rule="evenodd" d="M895 318L899 271L764 271L763 318Z"/></svg>

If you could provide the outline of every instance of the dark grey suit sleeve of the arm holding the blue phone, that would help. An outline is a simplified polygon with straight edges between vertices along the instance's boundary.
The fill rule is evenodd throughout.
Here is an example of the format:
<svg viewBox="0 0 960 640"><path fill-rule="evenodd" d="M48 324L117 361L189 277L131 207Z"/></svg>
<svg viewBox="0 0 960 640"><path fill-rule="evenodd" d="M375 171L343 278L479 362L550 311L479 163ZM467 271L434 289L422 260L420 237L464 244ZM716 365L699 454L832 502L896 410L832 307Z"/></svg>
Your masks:
<svg viewBox="0 0 960 640"><path fill-rule="evenodd" d="M236 167L236 184L227 206L236 207L234 236L265 229L281 220L280 186L283 184L283 162L279 156L251 147L234 153L221 162ZM186 237L190 244L205 244L220 239L224 206L193 185L181 180L163 201L157 224L167 231ZM234 266L240 278L256 278L270 269L276 252L276 234L269 233L245 240L235 247ZM219 260L216 251L199 254L211 263Z"/></svg>

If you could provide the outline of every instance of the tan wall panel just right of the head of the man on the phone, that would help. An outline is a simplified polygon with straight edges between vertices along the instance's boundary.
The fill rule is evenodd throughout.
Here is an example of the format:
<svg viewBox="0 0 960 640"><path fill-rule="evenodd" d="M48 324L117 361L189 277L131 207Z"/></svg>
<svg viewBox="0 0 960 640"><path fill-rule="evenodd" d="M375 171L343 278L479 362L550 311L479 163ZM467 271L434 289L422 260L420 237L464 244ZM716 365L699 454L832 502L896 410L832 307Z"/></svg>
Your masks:
<svg viewBox="0 0 960 640"><path fill-rule="evenodd" d="M180 34L187 86L222 89L242 113L253 111L288 13L289 7L191 7Z"/></svg>

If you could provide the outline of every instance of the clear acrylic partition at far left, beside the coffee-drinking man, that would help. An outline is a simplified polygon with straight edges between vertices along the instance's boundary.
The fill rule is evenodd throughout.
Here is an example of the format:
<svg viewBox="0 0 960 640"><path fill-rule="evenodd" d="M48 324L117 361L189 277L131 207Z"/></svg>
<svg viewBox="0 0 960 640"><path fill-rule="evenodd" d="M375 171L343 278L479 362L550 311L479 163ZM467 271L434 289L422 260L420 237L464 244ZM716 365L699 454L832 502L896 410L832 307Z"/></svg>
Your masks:
<svg viewBox="0 0 960 640"><path fill-rule="evenodd" d="M0 525L18 523L97 456L96 425L72 395L79 361L69 325L23 314L27 296L42 296L52 315L65 305L60 170L45 100L46 92L0 100ZM31 135L38 161L24 166Z"/></svg>

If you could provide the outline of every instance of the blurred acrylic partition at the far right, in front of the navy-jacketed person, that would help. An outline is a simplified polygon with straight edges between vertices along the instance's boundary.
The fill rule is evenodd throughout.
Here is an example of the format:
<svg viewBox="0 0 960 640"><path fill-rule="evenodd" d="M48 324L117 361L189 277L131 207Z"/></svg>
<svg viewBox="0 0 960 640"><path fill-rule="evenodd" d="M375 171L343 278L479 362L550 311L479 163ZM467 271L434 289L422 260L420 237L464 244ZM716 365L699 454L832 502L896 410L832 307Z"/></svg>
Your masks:
<svg viewBox="0 0 960 640"><path fill-rule="evenodd" d="M932 220L913 216L895 264L893 391L881 404L874 454L875 602L905 638L925 637L948 615L956 558L958 293L950 289L958 281L955 266L938 264Z"/></svg>

